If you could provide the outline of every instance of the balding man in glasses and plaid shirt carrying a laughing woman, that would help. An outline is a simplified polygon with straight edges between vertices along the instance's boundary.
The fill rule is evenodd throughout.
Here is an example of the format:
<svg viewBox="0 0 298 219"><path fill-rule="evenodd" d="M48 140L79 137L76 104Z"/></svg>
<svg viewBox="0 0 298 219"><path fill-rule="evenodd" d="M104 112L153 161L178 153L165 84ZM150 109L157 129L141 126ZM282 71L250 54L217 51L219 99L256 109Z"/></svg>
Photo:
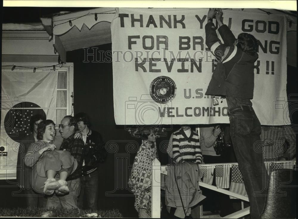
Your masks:
<svg viewBox="0 0 298 219"><path fill-rule="evenodd" d="M80 195L80 177L82 174L82 165L84 158L84 142L80 138L75 138L77 130L77 121L70 115L65 116L59 124L59 132L63 138L61 151L69 151L77 161L76 170L66 178L69 193L60 195L54 193L48 197L46 208L63 207L67 209L78 208L78 197ZM56 176L57 177L57 176Z"/></svg>

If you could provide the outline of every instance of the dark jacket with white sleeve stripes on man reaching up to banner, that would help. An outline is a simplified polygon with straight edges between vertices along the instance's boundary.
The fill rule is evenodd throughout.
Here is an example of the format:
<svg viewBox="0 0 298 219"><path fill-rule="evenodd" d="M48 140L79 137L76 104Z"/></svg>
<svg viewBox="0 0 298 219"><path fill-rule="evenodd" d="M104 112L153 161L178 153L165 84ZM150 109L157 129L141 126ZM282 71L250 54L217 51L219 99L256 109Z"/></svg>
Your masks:
<svg viewBox="0 0 298 219"><path fill-rule="evenodd" d="M218 60L205 94L252 99L254 62L258 54L249 55L239 46L234 46L236 38L226 25L218 28L224 44L218 38L213 23L206 24L205 32L206 45Z"/></svg>

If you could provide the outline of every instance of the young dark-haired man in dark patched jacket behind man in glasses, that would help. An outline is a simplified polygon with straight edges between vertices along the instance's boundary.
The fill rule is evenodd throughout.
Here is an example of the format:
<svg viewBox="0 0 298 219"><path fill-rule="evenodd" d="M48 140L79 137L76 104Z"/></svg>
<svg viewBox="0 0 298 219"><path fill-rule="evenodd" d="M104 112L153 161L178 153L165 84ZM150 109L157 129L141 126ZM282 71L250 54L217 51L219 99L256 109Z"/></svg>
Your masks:
<svg viewBox="0 0 298 219"><path fill-rule="evenodd" d="M78 130L82 134L85 143L84 160L81 181L81 192L78 207L87 209L97 209L97 198L99 190L99 174L97 171L98 163L104 162L107 157L105 144L100 133L90 129L91 123L89 116L80 112L75 115Z"/></svg>

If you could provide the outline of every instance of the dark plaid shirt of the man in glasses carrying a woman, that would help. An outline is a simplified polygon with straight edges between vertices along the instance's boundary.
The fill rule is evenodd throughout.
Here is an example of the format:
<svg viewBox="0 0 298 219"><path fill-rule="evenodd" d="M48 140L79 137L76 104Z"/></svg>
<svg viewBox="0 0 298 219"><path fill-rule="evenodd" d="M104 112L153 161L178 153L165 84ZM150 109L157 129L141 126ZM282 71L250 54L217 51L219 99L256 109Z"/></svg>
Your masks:
<svg viewBox="0 0 298 219"><path fill-rule="evenodd" d="M74 180L81 177L82 165L83 165L83 149L84 142L82 139L75 138L75 133L66 139L63 139L60 150L69 151L70 154L77 160L77 169L67 177L66 181Z"/></svg>

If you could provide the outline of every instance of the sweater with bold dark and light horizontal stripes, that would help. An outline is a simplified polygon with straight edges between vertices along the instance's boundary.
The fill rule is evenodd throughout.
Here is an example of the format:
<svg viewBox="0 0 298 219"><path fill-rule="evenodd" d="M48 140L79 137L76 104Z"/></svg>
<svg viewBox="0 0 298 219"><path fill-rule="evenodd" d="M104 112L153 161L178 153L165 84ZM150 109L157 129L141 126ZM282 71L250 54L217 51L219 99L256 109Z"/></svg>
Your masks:
<svg viewBox="0 0 298 219"><path fill-rule="evenodd" d="M192 130L190 137L187 137L183 129L173 134L173 158L175 162L183 161L202 163L202 152L199 135Z"/></svg>

